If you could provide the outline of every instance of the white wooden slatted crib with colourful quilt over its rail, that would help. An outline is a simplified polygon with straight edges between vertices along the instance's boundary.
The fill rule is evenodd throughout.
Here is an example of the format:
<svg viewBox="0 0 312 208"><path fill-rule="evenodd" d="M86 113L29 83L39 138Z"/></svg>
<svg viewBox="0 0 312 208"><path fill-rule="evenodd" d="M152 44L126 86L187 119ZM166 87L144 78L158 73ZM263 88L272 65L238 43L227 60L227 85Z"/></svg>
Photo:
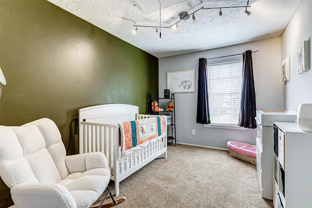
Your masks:
<svg viewBox="0 0 312 208"><path fill-rule="evenodd" d="M115 194L119 195L119 183L152 160L164 154L167 158L167 119L165 135L129 155L121 156L119 147L119 123L156 117L138 114L138 107L126 104L97 105L79 109L79 153L102 151L115 181Z"/></svg>

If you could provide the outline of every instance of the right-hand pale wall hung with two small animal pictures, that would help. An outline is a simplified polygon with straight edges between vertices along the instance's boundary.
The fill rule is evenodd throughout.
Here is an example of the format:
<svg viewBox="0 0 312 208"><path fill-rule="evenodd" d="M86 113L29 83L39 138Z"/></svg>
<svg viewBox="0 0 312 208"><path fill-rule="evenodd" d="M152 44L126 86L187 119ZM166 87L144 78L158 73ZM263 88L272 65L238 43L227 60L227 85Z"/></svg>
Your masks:
<svg viewBox="0 0 312 208"><path fill-rule="evenodd" d="M281 61L290 57L290 80L283 85L283 110L297 111L299 103L312 103L312 70L297 74L297 49L312 36L312 1L303 0L281 37ZM310 64L311 65L311 64Z"/></svg>

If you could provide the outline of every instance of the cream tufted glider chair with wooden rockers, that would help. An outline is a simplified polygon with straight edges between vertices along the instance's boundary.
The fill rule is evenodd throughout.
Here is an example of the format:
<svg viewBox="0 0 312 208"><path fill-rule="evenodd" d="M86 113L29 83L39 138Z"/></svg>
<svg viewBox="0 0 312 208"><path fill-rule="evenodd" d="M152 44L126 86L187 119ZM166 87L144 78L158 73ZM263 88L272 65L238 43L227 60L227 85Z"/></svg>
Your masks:
<svg viewBox="0 0 312 208"><path fill-rule="evenodd" d="M89 208L105 189L105 199L108 194L113 199L105 155L66 156L59 129L48 118L19 127L0 126L0 176L16 208ZM113 199L103 207L124 200Z"/></svg>

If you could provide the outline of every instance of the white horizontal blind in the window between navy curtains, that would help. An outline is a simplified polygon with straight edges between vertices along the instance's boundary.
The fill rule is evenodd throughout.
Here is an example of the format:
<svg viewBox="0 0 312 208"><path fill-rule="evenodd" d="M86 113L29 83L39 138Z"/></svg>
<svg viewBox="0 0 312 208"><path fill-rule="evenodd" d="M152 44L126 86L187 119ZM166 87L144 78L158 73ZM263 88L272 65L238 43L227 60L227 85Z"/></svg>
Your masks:
<svg viewBox="0 0 312 208"><path fill-rule="evenodd" d="M208 65L209 113L211 124L237 126L243 61Z"/></svg>

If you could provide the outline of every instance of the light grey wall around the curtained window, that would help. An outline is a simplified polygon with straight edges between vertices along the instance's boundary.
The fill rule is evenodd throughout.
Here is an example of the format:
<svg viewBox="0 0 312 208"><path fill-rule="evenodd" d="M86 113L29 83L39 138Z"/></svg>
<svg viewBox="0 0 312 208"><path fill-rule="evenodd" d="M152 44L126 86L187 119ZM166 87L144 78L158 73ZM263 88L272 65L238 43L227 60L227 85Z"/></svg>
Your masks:
<svg viewBox="0 0 312 208"><path fill-rule="evenodd" d="M271 38L213 50L194 52L174 57L159 58L159 96L166 89L166 72L195 69L195 93L176 93L176 138L177 143L227 148L229 140L254 144L256 131L208 128L196 123L198 62L194 59L222 57L259 50L253 54L256 107L260 110L281 110L281 56L280 38ZM242 59L242 56L208 60L209 63ZM196 134L192 135L192 129Z"/></svg>

